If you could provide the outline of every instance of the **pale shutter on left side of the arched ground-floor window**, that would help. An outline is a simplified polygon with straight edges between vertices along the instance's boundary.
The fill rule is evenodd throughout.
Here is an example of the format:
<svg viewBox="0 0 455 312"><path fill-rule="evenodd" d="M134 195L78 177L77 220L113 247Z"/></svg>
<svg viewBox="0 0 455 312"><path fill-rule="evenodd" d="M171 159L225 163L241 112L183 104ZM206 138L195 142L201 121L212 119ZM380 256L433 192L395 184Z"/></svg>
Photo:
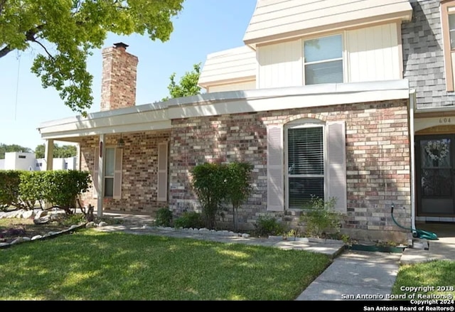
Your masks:
<svg viewBox="0 0 455 312"><path fill-rule="evenodd" d="M283 127L267 127L267 210L284 210Z"/></svg>

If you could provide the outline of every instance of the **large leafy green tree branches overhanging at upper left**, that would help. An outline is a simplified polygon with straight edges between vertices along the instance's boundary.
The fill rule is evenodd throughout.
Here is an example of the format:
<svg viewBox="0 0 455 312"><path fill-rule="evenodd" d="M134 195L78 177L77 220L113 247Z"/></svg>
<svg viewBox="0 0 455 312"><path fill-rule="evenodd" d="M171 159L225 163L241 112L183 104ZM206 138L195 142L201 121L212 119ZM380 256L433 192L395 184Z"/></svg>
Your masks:
<svg viewBox="0 0 455 312"><path fill-rule="evenodd" d="M31 71L65 104L86 116L92 106L87 56L107 33L168 41L184 0L0 0L0 58L38 47Z"/></svg>

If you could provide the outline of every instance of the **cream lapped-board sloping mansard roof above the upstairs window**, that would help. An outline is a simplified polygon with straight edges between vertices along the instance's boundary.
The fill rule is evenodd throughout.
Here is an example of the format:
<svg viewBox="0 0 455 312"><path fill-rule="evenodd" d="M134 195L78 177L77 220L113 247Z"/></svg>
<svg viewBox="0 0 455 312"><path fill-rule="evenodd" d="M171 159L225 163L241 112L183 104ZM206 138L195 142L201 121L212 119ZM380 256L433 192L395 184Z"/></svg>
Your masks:
<svg viewBox="0 0 455 312"><path fill-rule="evenodd" d="M392 18L409 21L411 17L409 0L261 0L257 2L243 41L255 48L259 43Z"/></svg>

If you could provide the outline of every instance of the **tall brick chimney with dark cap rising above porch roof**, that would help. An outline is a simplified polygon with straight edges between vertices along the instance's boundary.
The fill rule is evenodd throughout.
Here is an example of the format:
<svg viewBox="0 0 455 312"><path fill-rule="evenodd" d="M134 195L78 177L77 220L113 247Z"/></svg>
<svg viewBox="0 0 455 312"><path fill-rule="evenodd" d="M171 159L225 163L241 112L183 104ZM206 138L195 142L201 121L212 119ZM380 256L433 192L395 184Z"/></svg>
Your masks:
<svg viewBox="0 0 455 312"><path fill-rule="evenodd" d="M132 107L136 104L137 56L128 45L115 43L102 50L101 111Z"/></svg>

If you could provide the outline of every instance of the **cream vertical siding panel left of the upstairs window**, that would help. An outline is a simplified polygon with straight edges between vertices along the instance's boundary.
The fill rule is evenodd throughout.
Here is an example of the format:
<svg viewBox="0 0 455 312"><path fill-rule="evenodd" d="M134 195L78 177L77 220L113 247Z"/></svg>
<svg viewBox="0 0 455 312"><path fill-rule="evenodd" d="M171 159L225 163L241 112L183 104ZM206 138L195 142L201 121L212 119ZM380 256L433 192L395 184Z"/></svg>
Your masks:
<svg viewBox="0 0 455 312"><path fill-rule="evenodd" d="M303 85L302 53L300 39L258 47L258 89Z"/></svg>

